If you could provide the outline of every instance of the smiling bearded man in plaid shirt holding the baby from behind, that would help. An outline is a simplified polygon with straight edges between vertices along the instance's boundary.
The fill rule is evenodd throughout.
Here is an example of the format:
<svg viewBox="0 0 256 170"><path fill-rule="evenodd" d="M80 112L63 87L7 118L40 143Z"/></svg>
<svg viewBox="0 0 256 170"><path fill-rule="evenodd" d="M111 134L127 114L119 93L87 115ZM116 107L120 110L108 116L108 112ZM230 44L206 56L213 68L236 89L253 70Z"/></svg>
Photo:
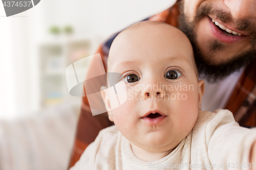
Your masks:
<svg viewBox="0 0 256 170"><path fill-rule="evenodd" d="M188 36L200 76L206 81L202 110L228 109L241 126L247 127L256 126L255 9L253 0L179 0L145 19L166 22ZM101 54L104 67L117 34L96 52ZM84 97L70 166L98 132L111 125L105 114L92 116Z"/></svg>

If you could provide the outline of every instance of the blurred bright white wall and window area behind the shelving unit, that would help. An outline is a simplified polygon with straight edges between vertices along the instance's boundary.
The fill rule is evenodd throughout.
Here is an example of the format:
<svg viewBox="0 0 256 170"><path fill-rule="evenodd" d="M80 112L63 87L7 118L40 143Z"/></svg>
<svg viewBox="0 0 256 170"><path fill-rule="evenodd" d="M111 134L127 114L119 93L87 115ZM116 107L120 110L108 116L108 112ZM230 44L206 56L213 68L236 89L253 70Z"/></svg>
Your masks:
<svg viewBox="0 0 256 170"><path fill-rule="evenodd" d="M63 38L51 35L50 27L72 26L72 39L90 39L92 54L111 34L174 3L174 0L41 0L34 8L11 17L5 16L0 5L0 118L30 115L42 109L38 48L42 43Z"/></svg>

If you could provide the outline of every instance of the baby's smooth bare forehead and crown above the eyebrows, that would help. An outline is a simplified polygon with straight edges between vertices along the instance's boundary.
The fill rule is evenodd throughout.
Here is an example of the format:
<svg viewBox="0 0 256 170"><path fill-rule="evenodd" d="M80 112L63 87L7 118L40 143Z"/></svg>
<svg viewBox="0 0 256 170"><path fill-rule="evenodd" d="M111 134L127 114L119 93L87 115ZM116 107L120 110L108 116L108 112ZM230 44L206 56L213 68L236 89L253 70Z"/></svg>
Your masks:
<svg viewBox="0 0 256 170"><path fill-rule="evenodd" d="M136 23L114 39L108 68L120 62L138 64L155 59L187 60L195 67L193 48L184 33L163 22L147 21Z"/></svg>

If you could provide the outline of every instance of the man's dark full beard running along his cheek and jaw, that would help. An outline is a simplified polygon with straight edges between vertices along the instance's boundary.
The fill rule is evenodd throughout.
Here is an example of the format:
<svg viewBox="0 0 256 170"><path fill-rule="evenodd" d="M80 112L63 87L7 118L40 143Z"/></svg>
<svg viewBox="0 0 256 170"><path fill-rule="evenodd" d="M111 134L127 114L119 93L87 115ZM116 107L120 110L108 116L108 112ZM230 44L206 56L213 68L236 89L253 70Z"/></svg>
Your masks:
<svg viewBox="0 0 256 170"><path fill-rule="evenodd" d="M193 50L194 50L194 55L195 55L195 61L198 67L199 71L199 76L201 79L207 80L208 82L211 83L216 83L217 81L223 80L225 77L229 76L232 74L232 72L240 70L243 66L246 66L249 64L251 61L253 61L256 58L256 48L255 48L255 33L253 32L253 27L254 25L249 25L247 22L241 22L241 26L243 24L247 23L247 27L249 27L250 36L251 38L251 48L241 54L234 55L231 59L222 62L220 64L213 64L210 61L207 61L207 56L204 56L202 52L200 51L199 45L196 41L197 36L194 31L194 25L193 23L196 23L200 18L205 16L206 14L211 13L213 10L210 6L202 7L199 8L197 12L197 16L195 17L193 23L189 22L184 14L184 9L183 9L183 2L179 2L179 8L180 8L180 16L179 16L179 29L186 34L188 39L190 40ZM216 12L216 10L215 10ZM219 19L221 17L224 17L225 14L223 12L218 13L217 16ZM224 17L225 18L225 17ZM221 19L220 19L221 20ZM237 27L240 26L239 24ZM243 25L244 26L244 25ZM245 27L244 27L245 28ZM253 28L253 29L252 29ZM239 29L239 28L237 28ZM241 30L241 29L239 29ZM219 41L215 40L212 41L209 44L209 53L216 52L216 51L222 51L225 46L220 43ZM223 56L225 57L225 56Z"/></svg>

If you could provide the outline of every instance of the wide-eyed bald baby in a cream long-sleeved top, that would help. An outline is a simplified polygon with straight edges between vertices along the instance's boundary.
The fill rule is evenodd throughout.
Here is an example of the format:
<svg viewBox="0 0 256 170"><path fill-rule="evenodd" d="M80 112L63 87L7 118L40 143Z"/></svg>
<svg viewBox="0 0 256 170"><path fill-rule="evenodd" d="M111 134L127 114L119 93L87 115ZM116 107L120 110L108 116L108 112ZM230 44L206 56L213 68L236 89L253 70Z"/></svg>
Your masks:
<svg viewBox="0 0 256 170"><path fill-rule="evenodd" d="M166 23L144 21L114 39L108 72L122 74L127 100L71 169L242 169L256 163L256 129L239 127L228 110L201 111L188 38ZM256 165L254 166L256 167Z"/></svg>

